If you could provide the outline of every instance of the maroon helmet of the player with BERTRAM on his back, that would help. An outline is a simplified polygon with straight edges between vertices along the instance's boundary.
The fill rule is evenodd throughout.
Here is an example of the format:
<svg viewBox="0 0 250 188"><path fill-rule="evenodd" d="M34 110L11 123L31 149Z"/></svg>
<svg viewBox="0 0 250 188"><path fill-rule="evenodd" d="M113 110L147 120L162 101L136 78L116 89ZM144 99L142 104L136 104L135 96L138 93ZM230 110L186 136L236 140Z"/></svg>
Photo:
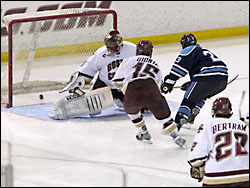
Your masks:
<svg viewBox="0 0 250 188"><path fill-rule="evenodd" d="M212 117L231 117L232 104L230 100L226 97L217 98L212 106Z"/></svg>

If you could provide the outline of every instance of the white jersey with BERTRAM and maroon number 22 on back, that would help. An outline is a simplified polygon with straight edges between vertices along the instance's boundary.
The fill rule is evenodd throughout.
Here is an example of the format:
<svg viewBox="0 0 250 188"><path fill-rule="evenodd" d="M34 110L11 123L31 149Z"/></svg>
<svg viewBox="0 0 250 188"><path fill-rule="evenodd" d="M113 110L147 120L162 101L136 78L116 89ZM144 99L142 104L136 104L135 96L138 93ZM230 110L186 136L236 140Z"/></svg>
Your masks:
<svg viewBox="0 0 250 188"><path fill-rule="evenodd" d="M205 184L249 181L249 127L240 120L215 118L200 124L188 158L205 163Z"/></svg>

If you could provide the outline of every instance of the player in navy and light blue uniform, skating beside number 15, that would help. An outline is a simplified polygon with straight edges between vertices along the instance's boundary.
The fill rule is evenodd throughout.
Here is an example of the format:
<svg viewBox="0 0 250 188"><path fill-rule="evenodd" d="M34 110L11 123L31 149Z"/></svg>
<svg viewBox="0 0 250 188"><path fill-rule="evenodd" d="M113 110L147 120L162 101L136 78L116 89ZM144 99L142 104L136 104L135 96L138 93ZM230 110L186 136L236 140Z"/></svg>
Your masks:
<svg viewBox="0 0 250 188"><path fill-rule="evenodd" d="M187 74L190 82L175 117L178 129L183 124L193 123L205 100L227 87L228 69L226 64L211 51L197 44L193 34L183 35L182 51L176 58L170 73L165 76L161 85L163 93L173 90L176 81Z"/></svg>

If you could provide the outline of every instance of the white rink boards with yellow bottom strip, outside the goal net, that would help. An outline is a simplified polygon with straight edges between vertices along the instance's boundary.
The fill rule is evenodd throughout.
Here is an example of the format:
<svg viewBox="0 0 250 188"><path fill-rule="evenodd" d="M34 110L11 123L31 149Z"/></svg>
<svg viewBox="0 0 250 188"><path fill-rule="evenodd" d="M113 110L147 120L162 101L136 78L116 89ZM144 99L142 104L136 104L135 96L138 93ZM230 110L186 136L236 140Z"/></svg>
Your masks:
<svg viewBox="0 0 250 188"><path fill-rule="evenodd" d="M174 43L190 32L198 40L249 35L249 1L1 1L1 62L7 61L8 46L3 16L72 7L114 9L120 33L134 43ZM71 29L65 37L76 33ZM56 45L56 38L48 40Z"/></svg>

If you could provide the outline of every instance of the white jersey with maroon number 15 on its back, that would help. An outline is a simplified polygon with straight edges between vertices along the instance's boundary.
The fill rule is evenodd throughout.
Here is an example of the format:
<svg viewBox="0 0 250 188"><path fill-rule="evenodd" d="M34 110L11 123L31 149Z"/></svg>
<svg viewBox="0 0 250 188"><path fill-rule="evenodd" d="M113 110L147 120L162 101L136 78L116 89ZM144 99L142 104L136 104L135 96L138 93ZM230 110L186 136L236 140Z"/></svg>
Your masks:
<svg viewBox="0 0 250 188"><path fill-rule="evenodd" d="M113 81L122 86L125 93L126 86L135 79L153 78L160 87L162 73L156 61L148 56L138 55L124 59L118 68Z"/></svg>

